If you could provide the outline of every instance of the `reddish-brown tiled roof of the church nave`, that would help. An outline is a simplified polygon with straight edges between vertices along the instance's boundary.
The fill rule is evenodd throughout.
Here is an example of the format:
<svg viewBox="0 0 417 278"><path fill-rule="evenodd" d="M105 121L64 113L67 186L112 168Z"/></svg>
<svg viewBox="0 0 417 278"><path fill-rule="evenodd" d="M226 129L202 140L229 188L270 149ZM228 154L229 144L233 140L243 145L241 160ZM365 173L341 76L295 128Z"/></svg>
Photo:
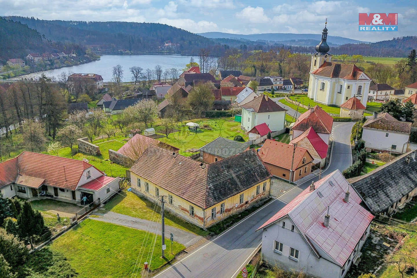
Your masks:
<svg viewBox="0 0 417 278"><path fill-rule="evenodd" d="M363 71L352 64L339 64L332 62L324 62L312 74L329 77L329 78L343 78L347 80L358 80Z"/></svg>

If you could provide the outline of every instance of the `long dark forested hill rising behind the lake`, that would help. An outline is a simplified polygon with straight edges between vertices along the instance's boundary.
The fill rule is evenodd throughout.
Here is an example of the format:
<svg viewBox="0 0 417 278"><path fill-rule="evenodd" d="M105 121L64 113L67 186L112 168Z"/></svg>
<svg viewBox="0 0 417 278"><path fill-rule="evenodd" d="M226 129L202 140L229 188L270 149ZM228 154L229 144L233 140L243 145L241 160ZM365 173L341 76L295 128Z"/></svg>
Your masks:
<svg viewBox="0 0 417 278"><path fill-rule="evenodd" d="M28 25L49 40L80 43L103 53L123 50L135 54L150 53L161 51L160 46L171 41L179 44L179 48L165 50L196 54L200 48L214 45L211 39L159 23L38 20L23 17L8 19Z"/></svg>

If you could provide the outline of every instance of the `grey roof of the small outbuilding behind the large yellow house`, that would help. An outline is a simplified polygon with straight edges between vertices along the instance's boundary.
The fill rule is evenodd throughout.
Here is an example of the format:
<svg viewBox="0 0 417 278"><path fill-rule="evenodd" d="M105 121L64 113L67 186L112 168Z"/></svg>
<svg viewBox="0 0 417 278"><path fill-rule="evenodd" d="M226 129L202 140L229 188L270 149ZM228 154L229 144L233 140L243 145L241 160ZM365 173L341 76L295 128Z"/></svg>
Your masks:
<svg viewBox="0 0 417 278"><path fill-rule="evenodd" d="M248 148L248 143L237 142L234 140L217 137L207 145L200 148L200 151L219 156L221 158L228 158L238 153L242 153Z"/></svg>

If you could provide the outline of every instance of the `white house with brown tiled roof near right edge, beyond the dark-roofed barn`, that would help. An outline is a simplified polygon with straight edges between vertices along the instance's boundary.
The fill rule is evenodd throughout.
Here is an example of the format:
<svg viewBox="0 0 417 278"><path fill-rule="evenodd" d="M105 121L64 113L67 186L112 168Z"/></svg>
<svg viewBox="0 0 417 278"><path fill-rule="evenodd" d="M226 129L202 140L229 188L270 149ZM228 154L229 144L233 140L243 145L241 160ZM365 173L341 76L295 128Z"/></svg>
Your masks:
<svg viewBox="0 0 417 278"><path fill-rule="evenodd" d="M374 113L362 128L365 148L392 153L407 151L411 123L399 121L388 113Z"/></svg>

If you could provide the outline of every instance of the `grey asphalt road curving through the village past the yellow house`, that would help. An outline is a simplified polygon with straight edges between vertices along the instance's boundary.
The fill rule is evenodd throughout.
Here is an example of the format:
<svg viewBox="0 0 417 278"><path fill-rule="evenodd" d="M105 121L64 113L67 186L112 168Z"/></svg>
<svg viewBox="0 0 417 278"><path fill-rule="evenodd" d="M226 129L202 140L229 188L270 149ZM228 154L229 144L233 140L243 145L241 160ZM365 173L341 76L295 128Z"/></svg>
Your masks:
<svg viewBox="0 0 417 278"><path fill-rule="evenodd" d="M334 143L332 156L330 164L322 173L322 176L336 169L342 171L352 164L352 155L349 155L351 153L349 140L353 124L337 122L333 124L332 138ZM318 177L311 180L318 180ZM271 201L154 277L235 278L237 272L243 268L246 260L261 244L262 232L255 232L255 230L283 208L286 203L295 198L302 190L307 188L311 184L311 180L307 180L287 191L279 198Z"/></svg>

